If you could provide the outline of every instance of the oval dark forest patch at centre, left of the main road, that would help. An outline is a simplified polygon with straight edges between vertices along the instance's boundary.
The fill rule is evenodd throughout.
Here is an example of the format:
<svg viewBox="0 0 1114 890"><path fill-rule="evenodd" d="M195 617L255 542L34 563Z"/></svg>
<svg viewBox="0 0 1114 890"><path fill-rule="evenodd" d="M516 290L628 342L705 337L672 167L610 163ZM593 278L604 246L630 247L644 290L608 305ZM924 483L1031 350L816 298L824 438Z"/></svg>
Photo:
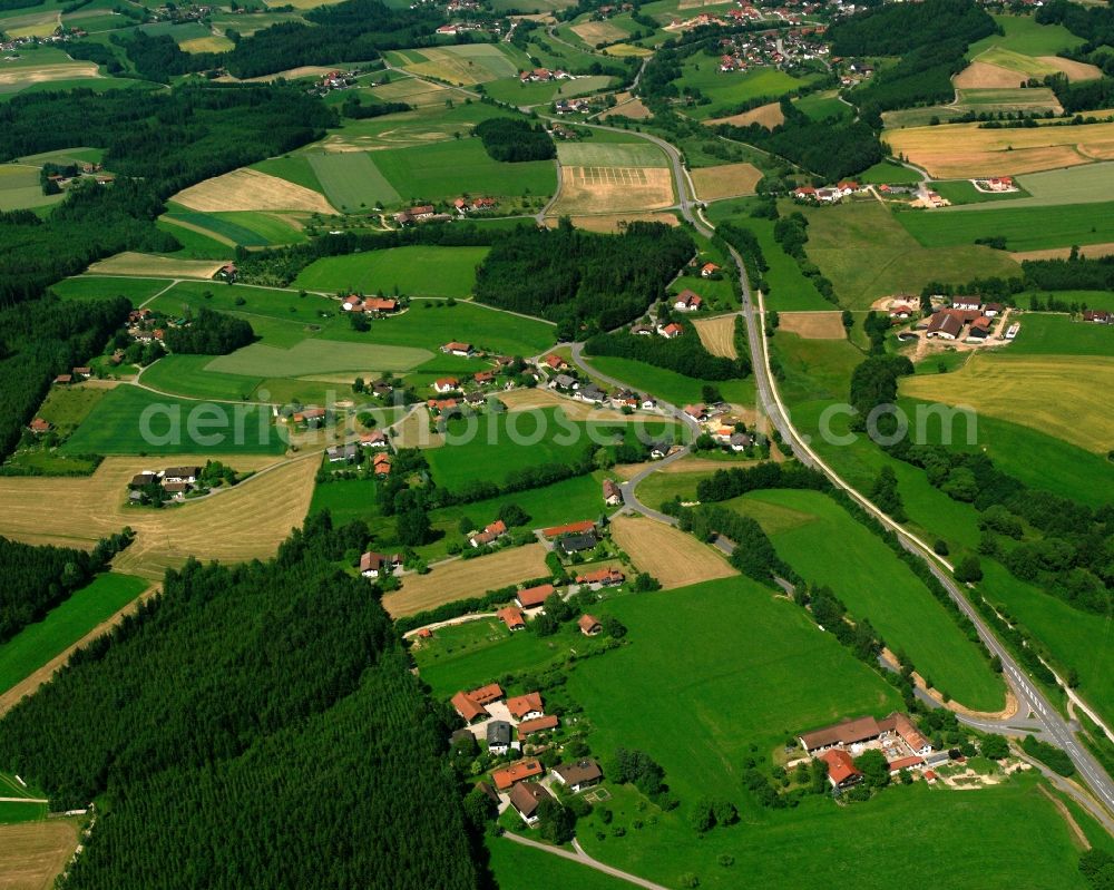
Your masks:
<svg viewBox="0 0 1114 890"><path fill-rule="evenodd" d="M558 323L573 339L582 325L610 330L642 315L695 252L692 238L661 223L631 223L596 235L561 219L555 229L519 226L476 271L476 299ZM589 331L589 332L590 332Z"/></svg>

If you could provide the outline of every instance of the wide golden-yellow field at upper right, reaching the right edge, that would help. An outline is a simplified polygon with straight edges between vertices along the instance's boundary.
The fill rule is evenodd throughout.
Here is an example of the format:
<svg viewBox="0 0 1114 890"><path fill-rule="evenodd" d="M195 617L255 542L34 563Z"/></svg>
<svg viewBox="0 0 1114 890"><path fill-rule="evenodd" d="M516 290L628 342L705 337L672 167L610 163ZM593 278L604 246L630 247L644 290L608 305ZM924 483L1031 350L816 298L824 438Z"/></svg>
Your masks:
<svg viewBox="0 0 1114 890"><path fill-rule="evenodd" d="M979 129L945 124L887 130L895 155L940 178L1018 175L1114 158L1114 124Z"/></svg>

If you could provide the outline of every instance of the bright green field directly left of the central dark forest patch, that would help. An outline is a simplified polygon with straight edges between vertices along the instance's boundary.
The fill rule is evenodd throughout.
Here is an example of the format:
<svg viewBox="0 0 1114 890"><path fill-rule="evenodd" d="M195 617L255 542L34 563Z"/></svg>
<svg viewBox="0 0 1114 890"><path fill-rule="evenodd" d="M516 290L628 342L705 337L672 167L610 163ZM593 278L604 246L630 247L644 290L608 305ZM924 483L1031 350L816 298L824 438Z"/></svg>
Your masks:
<svg viewBox="0 0 1114 890"><path fill-rule="evenodd" d="M487 247L392 247L315 260L294 280L313 291L463 297L476 284Z"/></svg>

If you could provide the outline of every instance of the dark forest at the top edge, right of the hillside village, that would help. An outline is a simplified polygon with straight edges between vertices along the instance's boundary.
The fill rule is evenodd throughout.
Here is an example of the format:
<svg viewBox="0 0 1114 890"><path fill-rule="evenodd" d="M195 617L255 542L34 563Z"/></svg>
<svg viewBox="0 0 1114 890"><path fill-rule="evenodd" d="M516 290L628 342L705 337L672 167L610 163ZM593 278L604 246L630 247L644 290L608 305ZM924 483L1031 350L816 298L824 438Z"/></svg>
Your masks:
<svg viewBox="0 0 1114 890"><path fill-rule="evenodd" d="M879 111L950 101L951 75L967 62L976 40L998 30L994 19L971 0L926 0L868 9L828 29L832 55L891 56L896 65L847 94L868 120Z"/></svg>

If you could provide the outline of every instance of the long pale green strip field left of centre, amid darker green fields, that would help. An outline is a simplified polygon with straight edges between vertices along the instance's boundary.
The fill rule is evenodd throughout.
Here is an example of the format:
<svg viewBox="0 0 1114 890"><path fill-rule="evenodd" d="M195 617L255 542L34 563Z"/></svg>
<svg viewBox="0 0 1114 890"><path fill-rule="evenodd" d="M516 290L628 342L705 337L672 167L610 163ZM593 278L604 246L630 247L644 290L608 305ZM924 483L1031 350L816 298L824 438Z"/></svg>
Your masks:
<svg viewBox="0 0 1114 890"><path fill-rule="evenodd" d="M290 349L252 343L217 355L207 371L244 376L304 376L338 371L407 371L430 358L426 350L380 344L303 340Z"/></svg>

